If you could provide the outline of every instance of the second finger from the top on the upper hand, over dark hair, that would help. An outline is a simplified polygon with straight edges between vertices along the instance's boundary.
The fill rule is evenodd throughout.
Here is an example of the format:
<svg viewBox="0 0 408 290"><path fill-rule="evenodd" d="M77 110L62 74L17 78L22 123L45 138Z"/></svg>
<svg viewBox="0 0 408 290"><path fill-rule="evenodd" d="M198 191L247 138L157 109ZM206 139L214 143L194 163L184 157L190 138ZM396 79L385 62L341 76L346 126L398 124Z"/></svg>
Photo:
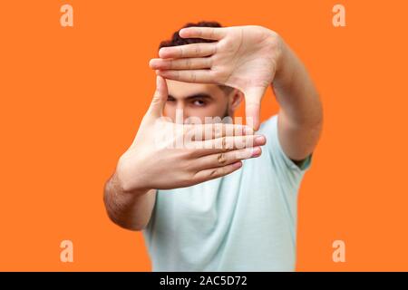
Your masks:
<svg viewBox="0 0 408 290"><path fill-rule="evenodd" d="M217 52L217 43L191 43L161 47L160 58L205 57Z"/></svg>

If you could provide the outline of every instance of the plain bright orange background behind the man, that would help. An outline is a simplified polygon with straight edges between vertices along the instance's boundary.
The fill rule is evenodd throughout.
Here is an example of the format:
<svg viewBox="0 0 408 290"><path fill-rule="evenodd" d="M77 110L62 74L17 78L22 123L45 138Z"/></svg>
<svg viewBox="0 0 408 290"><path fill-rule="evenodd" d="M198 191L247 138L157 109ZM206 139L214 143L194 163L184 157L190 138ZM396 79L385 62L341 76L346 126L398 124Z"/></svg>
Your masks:
<svg viewBox="0 0 408 290"><path fill-rule="evenodd" d="M332 7L346 8L345 28ZM73 5L74 27L60 7ZM297 270L408 270L406 1L1 1L0 270L150 271L102 189L154 90L160 40L187 22L260 24L306 63L325 128L299 196ZM404 36L405 35L405 36ZM272 93L262 118L277 111ZM73 241L74 262L60 262ZM332 261L342 239L346 262Z"/></svg>

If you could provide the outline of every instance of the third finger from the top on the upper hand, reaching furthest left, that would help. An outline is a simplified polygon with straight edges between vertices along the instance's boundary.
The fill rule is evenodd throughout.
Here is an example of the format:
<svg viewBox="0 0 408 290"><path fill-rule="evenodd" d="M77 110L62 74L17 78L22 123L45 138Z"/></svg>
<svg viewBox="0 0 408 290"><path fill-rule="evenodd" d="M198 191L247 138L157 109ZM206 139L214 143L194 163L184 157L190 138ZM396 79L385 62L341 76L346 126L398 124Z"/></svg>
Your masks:
<svg viewBox="0 0 408 290"><path fill-rule="evenodd" d="M209 69L212 65L211 58L184 58L184 59L152 59L149 65L153 70L199 70Z"/></svg>

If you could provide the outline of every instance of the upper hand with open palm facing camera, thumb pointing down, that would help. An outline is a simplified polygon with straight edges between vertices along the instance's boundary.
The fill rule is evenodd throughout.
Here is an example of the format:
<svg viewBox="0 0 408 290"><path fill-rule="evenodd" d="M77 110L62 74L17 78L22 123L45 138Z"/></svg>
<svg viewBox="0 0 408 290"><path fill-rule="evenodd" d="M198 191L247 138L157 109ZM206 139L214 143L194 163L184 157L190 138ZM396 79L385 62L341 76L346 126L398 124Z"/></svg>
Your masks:
<svg viewBox="0 0 408 290"><path fill-rule="evenodd" d="M237 26L190 27L180 36L217 42L162 48L151 68L167 79L219 83L244 92L247 120L251 118L257 129L261 98L275 77L277 34L260 26Z"/></svg>

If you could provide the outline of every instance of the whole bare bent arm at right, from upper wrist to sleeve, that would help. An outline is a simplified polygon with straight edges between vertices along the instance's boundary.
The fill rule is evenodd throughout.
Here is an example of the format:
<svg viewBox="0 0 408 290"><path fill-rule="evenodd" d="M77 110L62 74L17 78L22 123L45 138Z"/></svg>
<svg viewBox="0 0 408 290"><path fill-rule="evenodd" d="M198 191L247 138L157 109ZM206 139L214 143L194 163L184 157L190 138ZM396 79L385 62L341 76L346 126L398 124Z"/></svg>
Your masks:
<svg viewBox="0 0 408 290"><path fill-rule="evenodd" d="M290 159L304 160L320 137L322 104L305 66L283 41L273 87L280 106L277 128L282 148Z"/></svg>

